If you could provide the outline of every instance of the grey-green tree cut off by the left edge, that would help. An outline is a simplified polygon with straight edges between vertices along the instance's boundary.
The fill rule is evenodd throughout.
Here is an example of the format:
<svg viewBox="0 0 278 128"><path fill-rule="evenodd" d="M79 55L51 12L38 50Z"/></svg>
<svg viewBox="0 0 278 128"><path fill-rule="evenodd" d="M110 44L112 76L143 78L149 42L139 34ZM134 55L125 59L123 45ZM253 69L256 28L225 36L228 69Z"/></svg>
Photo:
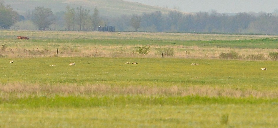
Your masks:
<svg viewBox="0 0 278 128"><path fill-rule="evenodd" d="M4 6L4 1L0 0L0 29L9 29L18 19L19 14L11 6Z"/></svg>

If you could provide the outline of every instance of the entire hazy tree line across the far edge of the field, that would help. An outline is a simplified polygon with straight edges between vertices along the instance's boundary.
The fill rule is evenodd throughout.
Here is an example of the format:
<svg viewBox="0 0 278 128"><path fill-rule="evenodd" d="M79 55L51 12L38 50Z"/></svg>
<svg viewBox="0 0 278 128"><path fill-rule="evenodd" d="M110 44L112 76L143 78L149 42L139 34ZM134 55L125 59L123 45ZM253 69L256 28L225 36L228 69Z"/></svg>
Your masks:
<svg viewBox="0 0 278 128"><path fill-rule="evenodd" d="M185 14L172 10L105 17L97 8L90 13L82 6L67 6L65 11L53 13L38 6L23 16L0 1L0 29L97 31L103 24L115 26L116 31L278 34L278 15L264 12L228 15L217 11Z"/></svg>

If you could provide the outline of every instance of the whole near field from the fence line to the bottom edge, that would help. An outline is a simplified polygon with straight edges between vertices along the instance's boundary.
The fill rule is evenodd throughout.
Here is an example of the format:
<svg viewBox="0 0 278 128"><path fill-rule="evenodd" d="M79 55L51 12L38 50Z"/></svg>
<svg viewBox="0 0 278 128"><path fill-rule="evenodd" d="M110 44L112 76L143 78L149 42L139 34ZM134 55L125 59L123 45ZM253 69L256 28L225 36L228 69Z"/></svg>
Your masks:
<svg viewBox="0 0 278 128"><path fill-rule="evenodd" d="M58 57L0 63L1 126L275 127L278 119L276 61ZM227 114L228 123L221 123Z"/></svg>

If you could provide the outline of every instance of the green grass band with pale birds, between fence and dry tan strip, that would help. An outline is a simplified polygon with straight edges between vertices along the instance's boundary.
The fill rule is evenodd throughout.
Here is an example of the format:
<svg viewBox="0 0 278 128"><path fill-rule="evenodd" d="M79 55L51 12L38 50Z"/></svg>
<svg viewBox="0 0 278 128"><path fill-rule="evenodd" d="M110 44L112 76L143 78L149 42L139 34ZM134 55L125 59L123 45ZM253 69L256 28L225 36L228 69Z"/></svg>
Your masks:
<svg viewBox="0 0 278 128"><path fill-rule="evenodd" d="M209 85L259 90L276 88L278 83L276 61L54 57L19 58L9 64L9 60L0 58L0 82L4 84ZM71 62L76 66L69 66ZM49 66L53 64L56 66ZM268 70L261 71L262 67Z"/></svg>

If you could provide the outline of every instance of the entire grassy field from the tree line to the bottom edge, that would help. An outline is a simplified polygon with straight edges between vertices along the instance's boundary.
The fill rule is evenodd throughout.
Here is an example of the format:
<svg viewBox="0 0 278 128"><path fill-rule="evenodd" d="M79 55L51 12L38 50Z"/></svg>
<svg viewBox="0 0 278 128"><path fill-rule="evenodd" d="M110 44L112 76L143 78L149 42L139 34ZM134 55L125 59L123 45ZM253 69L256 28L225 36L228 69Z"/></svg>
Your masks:
<svg viewBox="0 0 278 128"><path fill-rule="evenodd" d="M0 43L7 44L0 50L0 127L277 126L278 64L271 59L5 54L44 55L58 46L75 54L128 53L142 45L175 54L267 54L276 51L277 36L0 31Z"/></svg>

